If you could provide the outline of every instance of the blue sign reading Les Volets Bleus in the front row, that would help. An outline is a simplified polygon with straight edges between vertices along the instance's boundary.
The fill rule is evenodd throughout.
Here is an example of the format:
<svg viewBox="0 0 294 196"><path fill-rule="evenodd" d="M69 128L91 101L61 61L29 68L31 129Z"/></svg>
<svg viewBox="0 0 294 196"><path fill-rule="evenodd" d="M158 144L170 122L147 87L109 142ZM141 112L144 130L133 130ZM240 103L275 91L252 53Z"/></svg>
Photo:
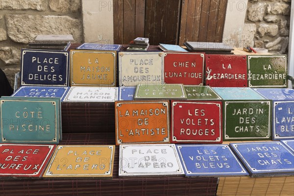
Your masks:
<svg viewBox="0 0 294 196"><path fill-rule="evenodd" d="M228 145L176 145L187 177L248 175Z"/></svg>

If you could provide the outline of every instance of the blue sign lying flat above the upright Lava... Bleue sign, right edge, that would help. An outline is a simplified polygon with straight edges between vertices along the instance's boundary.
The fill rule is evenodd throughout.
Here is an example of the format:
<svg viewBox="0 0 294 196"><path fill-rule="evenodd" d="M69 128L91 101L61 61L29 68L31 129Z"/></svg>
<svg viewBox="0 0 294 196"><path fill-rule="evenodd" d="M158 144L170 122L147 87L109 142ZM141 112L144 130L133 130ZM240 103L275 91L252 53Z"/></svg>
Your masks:
<svg viewBox="0 0 294 196"><path fill-rule="evenodd" d="M262 96L272 100L294 100L294 89L254 89Z"/></svg>

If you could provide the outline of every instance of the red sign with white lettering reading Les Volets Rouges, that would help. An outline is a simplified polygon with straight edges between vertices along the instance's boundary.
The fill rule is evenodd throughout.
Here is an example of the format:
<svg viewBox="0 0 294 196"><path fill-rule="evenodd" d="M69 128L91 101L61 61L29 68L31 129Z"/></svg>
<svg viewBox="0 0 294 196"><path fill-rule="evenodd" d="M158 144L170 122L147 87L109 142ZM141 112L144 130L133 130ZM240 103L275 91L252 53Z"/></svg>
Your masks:
<svg viewBox="0 0 294 196"><path fill-rule="evenodd" d="M172 143L222 142L221 101L172 101Z"/></svg>

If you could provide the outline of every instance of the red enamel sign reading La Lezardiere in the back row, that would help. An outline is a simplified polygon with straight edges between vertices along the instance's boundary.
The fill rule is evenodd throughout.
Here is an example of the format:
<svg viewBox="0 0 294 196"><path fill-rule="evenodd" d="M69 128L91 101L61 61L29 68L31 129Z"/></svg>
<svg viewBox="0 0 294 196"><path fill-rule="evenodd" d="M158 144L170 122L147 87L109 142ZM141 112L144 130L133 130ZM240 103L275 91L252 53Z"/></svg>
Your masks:
<svg viewBox="0 0 294 196"><path fill-rule="evenodd" d="M247 87L245 55L207 54L205 82L211 87Z"/></svg>

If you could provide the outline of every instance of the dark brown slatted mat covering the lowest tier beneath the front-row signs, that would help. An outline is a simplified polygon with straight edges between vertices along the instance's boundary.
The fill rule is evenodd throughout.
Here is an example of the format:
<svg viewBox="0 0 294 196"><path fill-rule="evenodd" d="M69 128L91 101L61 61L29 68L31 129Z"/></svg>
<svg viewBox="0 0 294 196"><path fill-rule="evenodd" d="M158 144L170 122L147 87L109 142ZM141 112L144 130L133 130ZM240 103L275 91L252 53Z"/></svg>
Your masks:
<svg viewBox="0 0 294 196"><path fill-rule="evenodd" d="M60 145L114 145L115 133L64 133ZM0 180L0 196L215 196L218 178L119 178L116 147L113 179Z"/></svg>

